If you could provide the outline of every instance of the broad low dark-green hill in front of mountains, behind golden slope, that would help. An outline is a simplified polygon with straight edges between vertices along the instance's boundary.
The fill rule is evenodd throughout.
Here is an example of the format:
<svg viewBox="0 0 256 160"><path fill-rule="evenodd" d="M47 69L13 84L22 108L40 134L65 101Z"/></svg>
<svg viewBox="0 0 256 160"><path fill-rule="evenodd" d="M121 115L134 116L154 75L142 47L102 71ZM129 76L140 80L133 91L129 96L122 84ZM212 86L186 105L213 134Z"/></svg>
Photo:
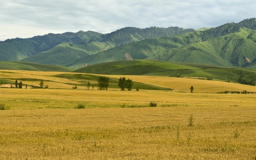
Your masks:
<svg viewBox="0 0 256 160"><path fill-rule="evenodd" d="M242 84L256 83L256 70L253 69L168 61L113 61L93 64L73 72L109 75L187 76L221 81L227 80Z"/></svg>

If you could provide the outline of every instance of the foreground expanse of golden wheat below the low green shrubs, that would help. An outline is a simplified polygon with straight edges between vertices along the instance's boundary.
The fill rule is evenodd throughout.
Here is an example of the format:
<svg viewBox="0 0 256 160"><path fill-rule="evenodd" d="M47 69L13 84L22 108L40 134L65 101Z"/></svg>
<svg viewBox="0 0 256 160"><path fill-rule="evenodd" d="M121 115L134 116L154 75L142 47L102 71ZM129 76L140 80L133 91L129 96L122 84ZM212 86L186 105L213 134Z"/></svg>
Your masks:
<svg viewBox="0 0 256 160"><path fill-rule="evenodd" d="M188 127L193 113L195 122ZM254 107L0 112L2 159L254 159ZM234 131L240 136L234 138ZM178 135L178 136L177 136Z"/></svg>

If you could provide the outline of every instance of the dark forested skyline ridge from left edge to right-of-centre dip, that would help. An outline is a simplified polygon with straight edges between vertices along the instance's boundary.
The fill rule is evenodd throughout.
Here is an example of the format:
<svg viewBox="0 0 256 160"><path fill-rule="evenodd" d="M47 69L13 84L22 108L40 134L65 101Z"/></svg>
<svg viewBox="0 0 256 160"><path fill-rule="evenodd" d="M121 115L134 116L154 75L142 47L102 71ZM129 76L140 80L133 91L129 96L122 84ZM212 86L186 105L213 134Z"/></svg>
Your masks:
<svg viewBox="0 0 256 160"><path fill-rule="evenodd" d="M62 43L88 45L92 42L102 42L108 45L107 48L113 48L143 39L160 36L170 37L172 35L194 31L194 29L182 29L179 27L151 27L146 29L126 27L108 34L93 31L79 31L77 33L66 32L62 34L49 33L47 35L35 36L33 38L26 39L8 39L0 43L0 61L20 61L30 55L48 51ZM99 52L101 51L102 50L99 50Z"/></svg>

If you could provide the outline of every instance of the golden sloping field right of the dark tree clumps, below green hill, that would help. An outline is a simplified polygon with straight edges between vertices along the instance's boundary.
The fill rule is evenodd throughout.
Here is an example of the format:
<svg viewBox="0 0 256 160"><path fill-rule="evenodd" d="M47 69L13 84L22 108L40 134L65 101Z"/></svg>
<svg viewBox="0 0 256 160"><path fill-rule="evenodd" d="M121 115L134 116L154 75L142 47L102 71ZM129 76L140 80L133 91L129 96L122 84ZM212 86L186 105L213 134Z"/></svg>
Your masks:
<svg viewBox="0 0 256 160"><path fill-rule="evenodd" d="M106 75L107 76L107 75ZM114 78L120 78L119 75L111 75ZM147 84L157 85L159 87L167 87L174 89L175 92L190 92L193 86L194 92L198 93L217 93L228 91L256 92L256 86L227 83L223 81L207 81L189 78L173 78L173 77L156 77L156 76L125 76L133 81L139 81Z"/></svg>

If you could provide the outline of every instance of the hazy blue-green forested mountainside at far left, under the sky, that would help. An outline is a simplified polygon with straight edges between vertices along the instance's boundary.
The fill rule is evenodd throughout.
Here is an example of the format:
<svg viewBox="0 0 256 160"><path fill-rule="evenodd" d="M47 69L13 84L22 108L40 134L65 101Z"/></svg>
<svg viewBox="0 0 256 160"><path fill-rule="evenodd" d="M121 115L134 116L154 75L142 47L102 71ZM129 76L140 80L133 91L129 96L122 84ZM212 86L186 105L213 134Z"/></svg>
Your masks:
<svg viewBox="0 0 256 160"><path fill-rule="evenodd" d="M62 34L49 33L33 38L8 39L0 43L0 61L20 61L38 52L44 52L61 43L80 44L101 33L93 31L66 32Z"/></svg>

